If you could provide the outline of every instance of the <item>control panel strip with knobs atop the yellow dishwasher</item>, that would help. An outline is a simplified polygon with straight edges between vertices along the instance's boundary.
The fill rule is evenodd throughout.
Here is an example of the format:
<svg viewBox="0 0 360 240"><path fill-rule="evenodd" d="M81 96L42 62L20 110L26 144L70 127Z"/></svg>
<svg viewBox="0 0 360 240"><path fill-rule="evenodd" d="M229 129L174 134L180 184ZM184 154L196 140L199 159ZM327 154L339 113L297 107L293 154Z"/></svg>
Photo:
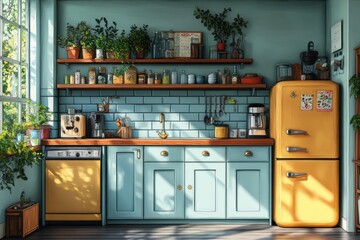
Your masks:
<svg viewBox="0 0 360 240"><path fill-rule="evenodd" d="M46 151L47 159L100 159L101 149L49 149Z"/></svg>

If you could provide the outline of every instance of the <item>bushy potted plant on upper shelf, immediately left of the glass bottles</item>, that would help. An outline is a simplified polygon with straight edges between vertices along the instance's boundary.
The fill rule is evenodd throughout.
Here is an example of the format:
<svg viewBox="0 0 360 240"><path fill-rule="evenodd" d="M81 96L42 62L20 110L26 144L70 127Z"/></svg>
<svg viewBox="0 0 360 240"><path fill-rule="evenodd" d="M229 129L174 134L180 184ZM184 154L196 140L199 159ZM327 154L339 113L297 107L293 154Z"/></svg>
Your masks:
<svg viewBox="0 0 360 240"><path fill-rule="evenodd" d="M129 42L135 51L136 58L144 58L150 50L151 39L147 32L148 25L138 27L135 24L130 27Z"/></svg>

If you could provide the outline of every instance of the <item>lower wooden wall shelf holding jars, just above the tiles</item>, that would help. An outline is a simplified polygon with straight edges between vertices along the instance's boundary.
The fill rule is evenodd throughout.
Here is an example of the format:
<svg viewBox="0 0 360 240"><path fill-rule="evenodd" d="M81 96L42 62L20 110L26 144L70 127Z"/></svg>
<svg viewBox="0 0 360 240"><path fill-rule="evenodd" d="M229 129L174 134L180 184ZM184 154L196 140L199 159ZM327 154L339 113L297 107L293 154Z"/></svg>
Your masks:
<svg viewBox="0 0 360 240"><path fill-rule="evenodd" d="M266 89L266 84L57 84L58 89Z"/></svg>

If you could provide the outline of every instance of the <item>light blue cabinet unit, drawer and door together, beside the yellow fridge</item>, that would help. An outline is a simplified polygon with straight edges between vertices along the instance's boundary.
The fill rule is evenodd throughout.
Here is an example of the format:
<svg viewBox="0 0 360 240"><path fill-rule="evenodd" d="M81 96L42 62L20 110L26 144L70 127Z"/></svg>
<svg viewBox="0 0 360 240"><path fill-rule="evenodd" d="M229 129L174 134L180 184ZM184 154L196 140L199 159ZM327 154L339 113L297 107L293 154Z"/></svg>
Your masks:
<svg viewBox="0 0 360 240"><path fill-rule="evenodd" d="M227 147L227 218L270 219L271 148Z"/></svg>

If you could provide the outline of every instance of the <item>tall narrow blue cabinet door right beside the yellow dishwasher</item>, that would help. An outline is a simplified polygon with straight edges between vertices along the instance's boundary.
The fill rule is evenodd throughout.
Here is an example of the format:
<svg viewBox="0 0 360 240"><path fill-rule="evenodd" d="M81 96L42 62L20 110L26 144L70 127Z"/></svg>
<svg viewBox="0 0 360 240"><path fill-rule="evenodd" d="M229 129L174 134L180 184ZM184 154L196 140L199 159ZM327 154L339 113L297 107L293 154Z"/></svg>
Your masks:
<svg viewBox="0 0 360 240"><path fill-rule="evenodd" d="M107 151L109 219L143 218L142 147L111 146Z"/></svg>

